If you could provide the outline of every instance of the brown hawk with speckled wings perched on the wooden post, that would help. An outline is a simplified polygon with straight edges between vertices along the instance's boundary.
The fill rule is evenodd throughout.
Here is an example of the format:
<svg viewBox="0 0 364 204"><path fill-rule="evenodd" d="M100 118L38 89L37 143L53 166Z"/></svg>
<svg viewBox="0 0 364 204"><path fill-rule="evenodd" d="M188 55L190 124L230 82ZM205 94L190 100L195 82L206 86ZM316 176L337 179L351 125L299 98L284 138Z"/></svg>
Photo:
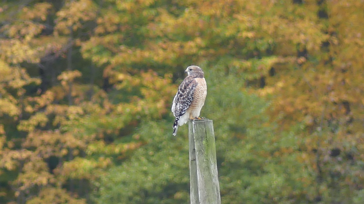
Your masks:
<svg viewBox="0 0 364 204"><path fill-rule="evenodd" d="M192 65L185 70L188 76L178 87L173 99L172 112L176 117L173 124L173 135L177 134L178 126L186 124L189 119L200 119L200 111L207 94L206 81L203 71Z"/></svg>

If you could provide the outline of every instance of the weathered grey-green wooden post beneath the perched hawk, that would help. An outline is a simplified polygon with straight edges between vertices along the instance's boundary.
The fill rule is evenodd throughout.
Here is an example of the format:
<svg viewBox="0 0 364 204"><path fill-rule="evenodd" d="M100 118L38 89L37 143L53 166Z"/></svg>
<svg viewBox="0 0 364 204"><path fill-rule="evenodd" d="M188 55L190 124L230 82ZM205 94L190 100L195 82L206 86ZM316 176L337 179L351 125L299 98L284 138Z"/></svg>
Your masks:
<svg viewBox="0 0 364 204"><path fill-rule="evenodd" d="M191 204L221 204L212 120L189 121Z"/></svg>

